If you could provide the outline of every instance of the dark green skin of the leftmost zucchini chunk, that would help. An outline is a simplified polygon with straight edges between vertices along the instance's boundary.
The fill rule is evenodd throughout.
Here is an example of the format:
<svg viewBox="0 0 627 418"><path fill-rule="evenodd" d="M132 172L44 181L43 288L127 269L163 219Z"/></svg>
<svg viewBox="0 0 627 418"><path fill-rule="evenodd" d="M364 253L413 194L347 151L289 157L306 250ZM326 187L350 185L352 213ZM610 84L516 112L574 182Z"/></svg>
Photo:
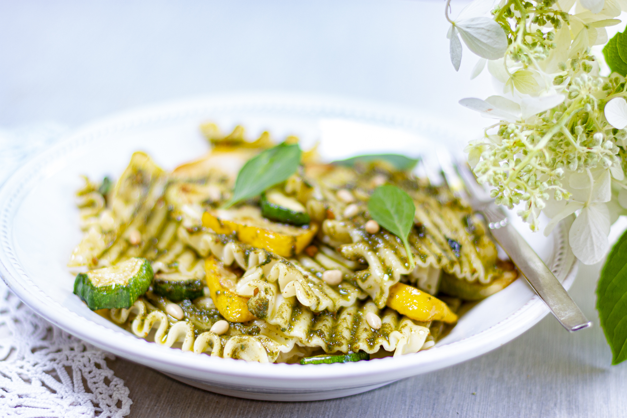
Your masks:
<svg viewBox="0 0 627 418"><path fill-rule="evenodd" d="M88 273L79 273L74 281L74 294L92 311L98 309L130 308L139 296L144 295L152 283L152 266L147 259L137 274L126 285L95 286Z"/></svg>

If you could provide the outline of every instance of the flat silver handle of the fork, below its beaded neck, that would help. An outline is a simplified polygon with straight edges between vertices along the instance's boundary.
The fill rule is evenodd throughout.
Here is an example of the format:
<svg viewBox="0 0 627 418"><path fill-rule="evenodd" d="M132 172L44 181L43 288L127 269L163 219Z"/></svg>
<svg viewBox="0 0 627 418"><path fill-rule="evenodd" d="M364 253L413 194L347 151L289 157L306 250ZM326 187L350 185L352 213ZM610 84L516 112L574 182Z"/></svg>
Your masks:
<svg viewBox="0 0 627 418"><path fill-rule="evenodd" d="M490 232L564 328L574 332L592 325L514 226L506 224Z"/></svg>

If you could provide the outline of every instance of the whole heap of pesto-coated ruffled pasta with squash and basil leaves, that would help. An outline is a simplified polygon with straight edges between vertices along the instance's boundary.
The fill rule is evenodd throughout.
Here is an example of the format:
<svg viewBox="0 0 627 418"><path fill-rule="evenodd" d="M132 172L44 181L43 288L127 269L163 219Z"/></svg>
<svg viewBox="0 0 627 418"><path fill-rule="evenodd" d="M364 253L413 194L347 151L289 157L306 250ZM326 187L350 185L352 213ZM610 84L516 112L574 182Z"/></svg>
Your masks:
<svg viewBox="0 0 627 418"><path fill-rule="evenodd" d="M415 160L325 163L296 137L201 129L198 160L167 172L135 152L115 182L76 193L74 293L137 337L263 363L406 355L518 276Z"/></svg>

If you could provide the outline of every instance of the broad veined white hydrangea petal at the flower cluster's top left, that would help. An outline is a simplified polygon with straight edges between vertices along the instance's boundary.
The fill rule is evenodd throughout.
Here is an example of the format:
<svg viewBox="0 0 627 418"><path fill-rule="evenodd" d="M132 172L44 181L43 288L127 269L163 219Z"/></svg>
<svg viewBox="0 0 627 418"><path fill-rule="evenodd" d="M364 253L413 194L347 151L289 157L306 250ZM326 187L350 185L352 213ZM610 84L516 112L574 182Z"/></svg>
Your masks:
<svg viewBox="0 0 627 418"><path fill-rule="evenodd" d="M461 39L482 58L497 60L505 55L507 36L498 23L490 18L470 18L455 23Z"/></svg>

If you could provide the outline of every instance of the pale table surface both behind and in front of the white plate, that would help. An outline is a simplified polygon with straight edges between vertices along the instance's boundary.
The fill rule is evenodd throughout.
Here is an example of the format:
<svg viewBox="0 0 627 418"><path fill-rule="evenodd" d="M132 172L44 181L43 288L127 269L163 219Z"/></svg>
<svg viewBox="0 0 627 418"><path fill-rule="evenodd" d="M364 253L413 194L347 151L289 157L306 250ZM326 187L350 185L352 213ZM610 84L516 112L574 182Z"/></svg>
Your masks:
<svg viewBox="0 0 627 418"><path fill-rule="evenodd" d="M406 105L480 132L489 121L456 102L493 94L492 83L487 74L468 81L477 58L467 50L455 73L446 30L441 1L0 0L0 127L76 127L174 98L287 91ZM211 416L627 416L627 363L610 365L594 310L600 267L582 266L571 289L595 325L572 335L549 316L483 357L340 400L176 390L215 402ZM193 412L134 400L131 417Z"/></svg>

